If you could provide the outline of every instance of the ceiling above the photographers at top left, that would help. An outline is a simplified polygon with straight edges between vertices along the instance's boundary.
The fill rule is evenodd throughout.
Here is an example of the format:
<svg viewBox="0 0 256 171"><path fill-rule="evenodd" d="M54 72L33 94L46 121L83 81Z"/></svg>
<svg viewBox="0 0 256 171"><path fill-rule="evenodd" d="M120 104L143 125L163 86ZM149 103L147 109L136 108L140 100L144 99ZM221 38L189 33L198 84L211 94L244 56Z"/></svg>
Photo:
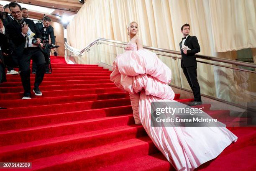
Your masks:
<svg viewBox="0 0 256 171"><path fill-rule="evenodd" d="M6 4L15 0L5 0ZM36 5L39 7L47 7L54 9L51 14L45 13L41 10L28 10L29 18L41 19L44 13L51 17L54 21L60 22L62 17L68 17L77 13L82 7L79 0L16 0L15 2L23 4ZM4 5L4 4L3 4ZM58 17L59 16L59 17Z"/></svg>

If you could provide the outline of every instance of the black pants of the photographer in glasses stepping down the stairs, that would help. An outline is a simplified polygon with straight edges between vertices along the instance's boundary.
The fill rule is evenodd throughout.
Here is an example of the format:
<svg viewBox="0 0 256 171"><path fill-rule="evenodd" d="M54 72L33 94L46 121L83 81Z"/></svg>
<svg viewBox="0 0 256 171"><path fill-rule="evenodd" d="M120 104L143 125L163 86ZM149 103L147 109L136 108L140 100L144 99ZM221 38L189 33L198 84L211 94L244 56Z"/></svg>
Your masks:
<svg viewBox="0 0 256 171"><path fill-rule="evenodd" d="M45 59L44 54L38 47L25 48L22 58L19 60L20 78L24 89L24 95L31 94L30 87L30 60L36 63L36 78L34 87L38 87L44 79Z"/></svg>

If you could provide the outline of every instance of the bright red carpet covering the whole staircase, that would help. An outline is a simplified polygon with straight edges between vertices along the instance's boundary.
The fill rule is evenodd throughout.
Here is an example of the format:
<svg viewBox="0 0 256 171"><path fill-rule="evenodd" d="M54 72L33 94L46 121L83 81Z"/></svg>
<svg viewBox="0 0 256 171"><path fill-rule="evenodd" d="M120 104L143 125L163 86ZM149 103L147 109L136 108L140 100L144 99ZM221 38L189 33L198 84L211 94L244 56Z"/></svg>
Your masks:
<svg viewBox="0 0 256 171"><path fill-rule="evenodd" d="M174 171L143 127L134 124L129 95L110 82L111 71L66 64L63 57L52 57L51 63L53 74L45 75L41 97L20 100L19 75L0 84L0 106L8 108L0 110L0 162L32 162L32 169L18 171ZM255 171L256 129L233 127L247 118L203 106L228 123L238 141L196 171Z"/></svg>

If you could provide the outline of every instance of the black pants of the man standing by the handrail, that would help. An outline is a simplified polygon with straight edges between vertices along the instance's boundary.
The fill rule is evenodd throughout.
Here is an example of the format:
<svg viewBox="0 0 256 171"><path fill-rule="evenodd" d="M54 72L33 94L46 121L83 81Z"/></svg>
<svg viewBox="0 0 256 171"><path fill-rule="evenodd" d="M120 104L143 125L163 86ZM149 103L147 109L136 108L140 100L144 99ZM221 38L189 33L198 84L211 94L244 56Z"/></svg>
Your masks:
<svg viewBox="0 0 256 171"><path fill-rule="evenodd" d="M197 66L184 67L182 69L187 78L187 82L193 91L195 101L201 102L200 86L197 81Z"/></svg>

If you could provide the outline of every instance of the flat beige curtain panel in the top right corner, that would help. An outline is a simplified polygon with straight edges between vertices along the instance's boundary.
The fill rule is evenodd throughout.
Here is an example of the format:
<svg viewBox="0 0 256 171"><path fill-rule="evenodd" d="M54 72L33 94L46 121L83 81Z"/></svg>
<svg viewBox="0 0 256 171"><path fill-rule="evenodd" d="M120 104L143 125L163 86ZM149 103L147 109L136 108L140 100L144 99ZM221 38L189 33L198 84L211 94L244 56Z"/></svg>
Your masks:
<svg viewBox="0 0 256 171"><path fill-rule="evenodd" d="M255 0L209 0L216 51L256 47Z"/></svg>

